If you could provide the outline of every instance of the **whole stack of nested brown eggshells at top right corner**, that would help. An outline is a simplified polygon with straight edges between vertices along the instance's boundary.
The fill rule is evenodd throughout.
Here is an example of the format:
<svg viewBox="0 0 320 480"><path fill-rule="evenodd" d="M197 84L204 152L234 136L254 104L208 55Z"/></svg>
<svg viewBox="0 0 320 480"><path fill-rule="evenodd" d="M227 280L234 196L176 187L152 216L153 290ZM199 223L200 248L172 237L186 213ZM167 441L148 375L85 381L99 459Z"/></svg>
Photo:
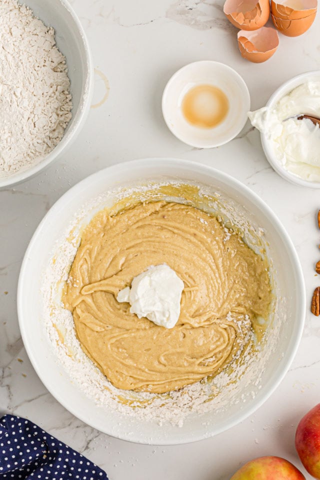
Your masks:
<svg viewBox="0 0 320 480"><path fill-rule="evenodd" d="M298 36L313 23L317 0L271 0L271 18L286 36Z"/></svg>

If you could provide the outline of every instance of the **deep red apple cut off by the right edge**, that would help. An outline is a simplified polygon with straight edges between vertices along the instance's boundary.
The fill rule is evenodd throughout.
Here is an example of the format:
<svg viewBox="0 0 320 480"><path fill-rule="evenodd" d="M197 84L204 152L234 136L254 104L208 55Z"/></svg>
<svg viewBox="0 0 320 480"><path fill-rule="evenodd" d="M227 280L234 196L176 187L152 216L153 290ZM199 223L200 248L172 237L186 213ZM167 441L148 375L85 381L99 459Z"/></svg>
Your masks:
<svg viewBox="0 0 320 480"><path fill-rule="evenodd" d="M295 448L306 471L320 478L320 403L299 421Z"/></svg>

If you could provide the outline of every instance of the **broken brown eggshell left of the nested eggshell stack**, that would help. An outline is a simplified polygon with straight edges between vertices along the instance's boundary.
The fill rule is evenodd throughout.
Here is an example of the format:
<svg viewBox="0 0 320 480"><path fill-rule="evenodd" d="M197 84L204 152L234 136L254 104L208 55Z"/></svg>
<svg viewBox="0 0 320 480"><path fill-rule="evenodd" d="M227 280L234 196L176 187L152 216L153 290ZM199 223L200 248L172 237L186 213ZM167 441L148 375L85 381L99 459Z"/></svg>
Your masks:
<svg viewBox="0 0 320 480"><path fill-rule="evenodd" d="M227 19L240 30L257 30L270 15L269 0L226 0L223 12Z"/></svg>

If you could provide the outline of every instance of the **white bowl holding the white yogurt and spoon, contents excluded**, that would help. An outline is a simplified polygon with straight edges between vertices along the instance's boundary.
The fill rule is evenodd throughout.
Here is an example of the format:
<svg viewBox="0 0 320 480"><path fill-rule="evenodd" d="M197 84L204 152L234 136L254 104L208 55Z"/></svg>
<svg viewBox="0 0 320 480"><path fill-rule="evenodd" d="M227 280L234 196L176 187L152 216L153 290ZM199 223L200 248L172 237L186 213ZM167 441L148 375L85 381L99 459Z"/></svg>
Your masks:
<svg viewBox="0 0 320 480"><path fill-rule="evenodd" d="M299 75L296 75L293 78L290 78L289 80L285 81L270 96L265 106L269 108L273 108L281 97L283 97L284 95L289 93L291 90L293 90L293 88L297 87L298 85L300 85L301 83L307 80L320 81L320 70L306 71L304 73L300 73ZM272 142L270 141L270 139L267 138L264 135L264 133L261 133L260 136L261 136L262 148L266 156L266 159L268 160L272 168L279 175L282 176L282 178L290 181L291 183L294 183L295 185L306 186L308 188L320 188L319 181L304 180L303 178L300 178L294 175L293 173L289 172L288 170L286 170L286 168L284 168L284 166L281 165L281 163L279 163L278 160L275 158L273 148L272 148Z"/></svg>

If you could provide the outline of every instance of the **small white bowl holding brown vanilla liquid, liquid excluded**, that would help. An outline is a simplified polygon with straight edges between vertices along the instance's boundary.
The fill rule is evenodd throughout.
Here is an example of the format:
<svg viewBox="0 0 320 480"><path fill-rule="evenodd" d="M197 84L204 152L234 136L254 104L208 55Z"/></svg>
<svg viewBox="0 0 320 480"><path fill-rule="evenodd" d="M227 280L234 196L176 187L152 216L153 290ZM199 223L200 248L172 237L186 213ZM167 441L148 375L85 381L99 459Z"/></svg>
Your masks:
<svg viewBox="0 0 320 480"><path fill-rule="evenodd" d="M193 126L183 116L181 103L186 92L201 84L220 88L229 100L225 118L212 128ZM233 68L218 61L189 63L176 71L162 95L162 113L173 135L188 145L212 148L234 138L247 121L250 95L242 77Z"/></svg>

